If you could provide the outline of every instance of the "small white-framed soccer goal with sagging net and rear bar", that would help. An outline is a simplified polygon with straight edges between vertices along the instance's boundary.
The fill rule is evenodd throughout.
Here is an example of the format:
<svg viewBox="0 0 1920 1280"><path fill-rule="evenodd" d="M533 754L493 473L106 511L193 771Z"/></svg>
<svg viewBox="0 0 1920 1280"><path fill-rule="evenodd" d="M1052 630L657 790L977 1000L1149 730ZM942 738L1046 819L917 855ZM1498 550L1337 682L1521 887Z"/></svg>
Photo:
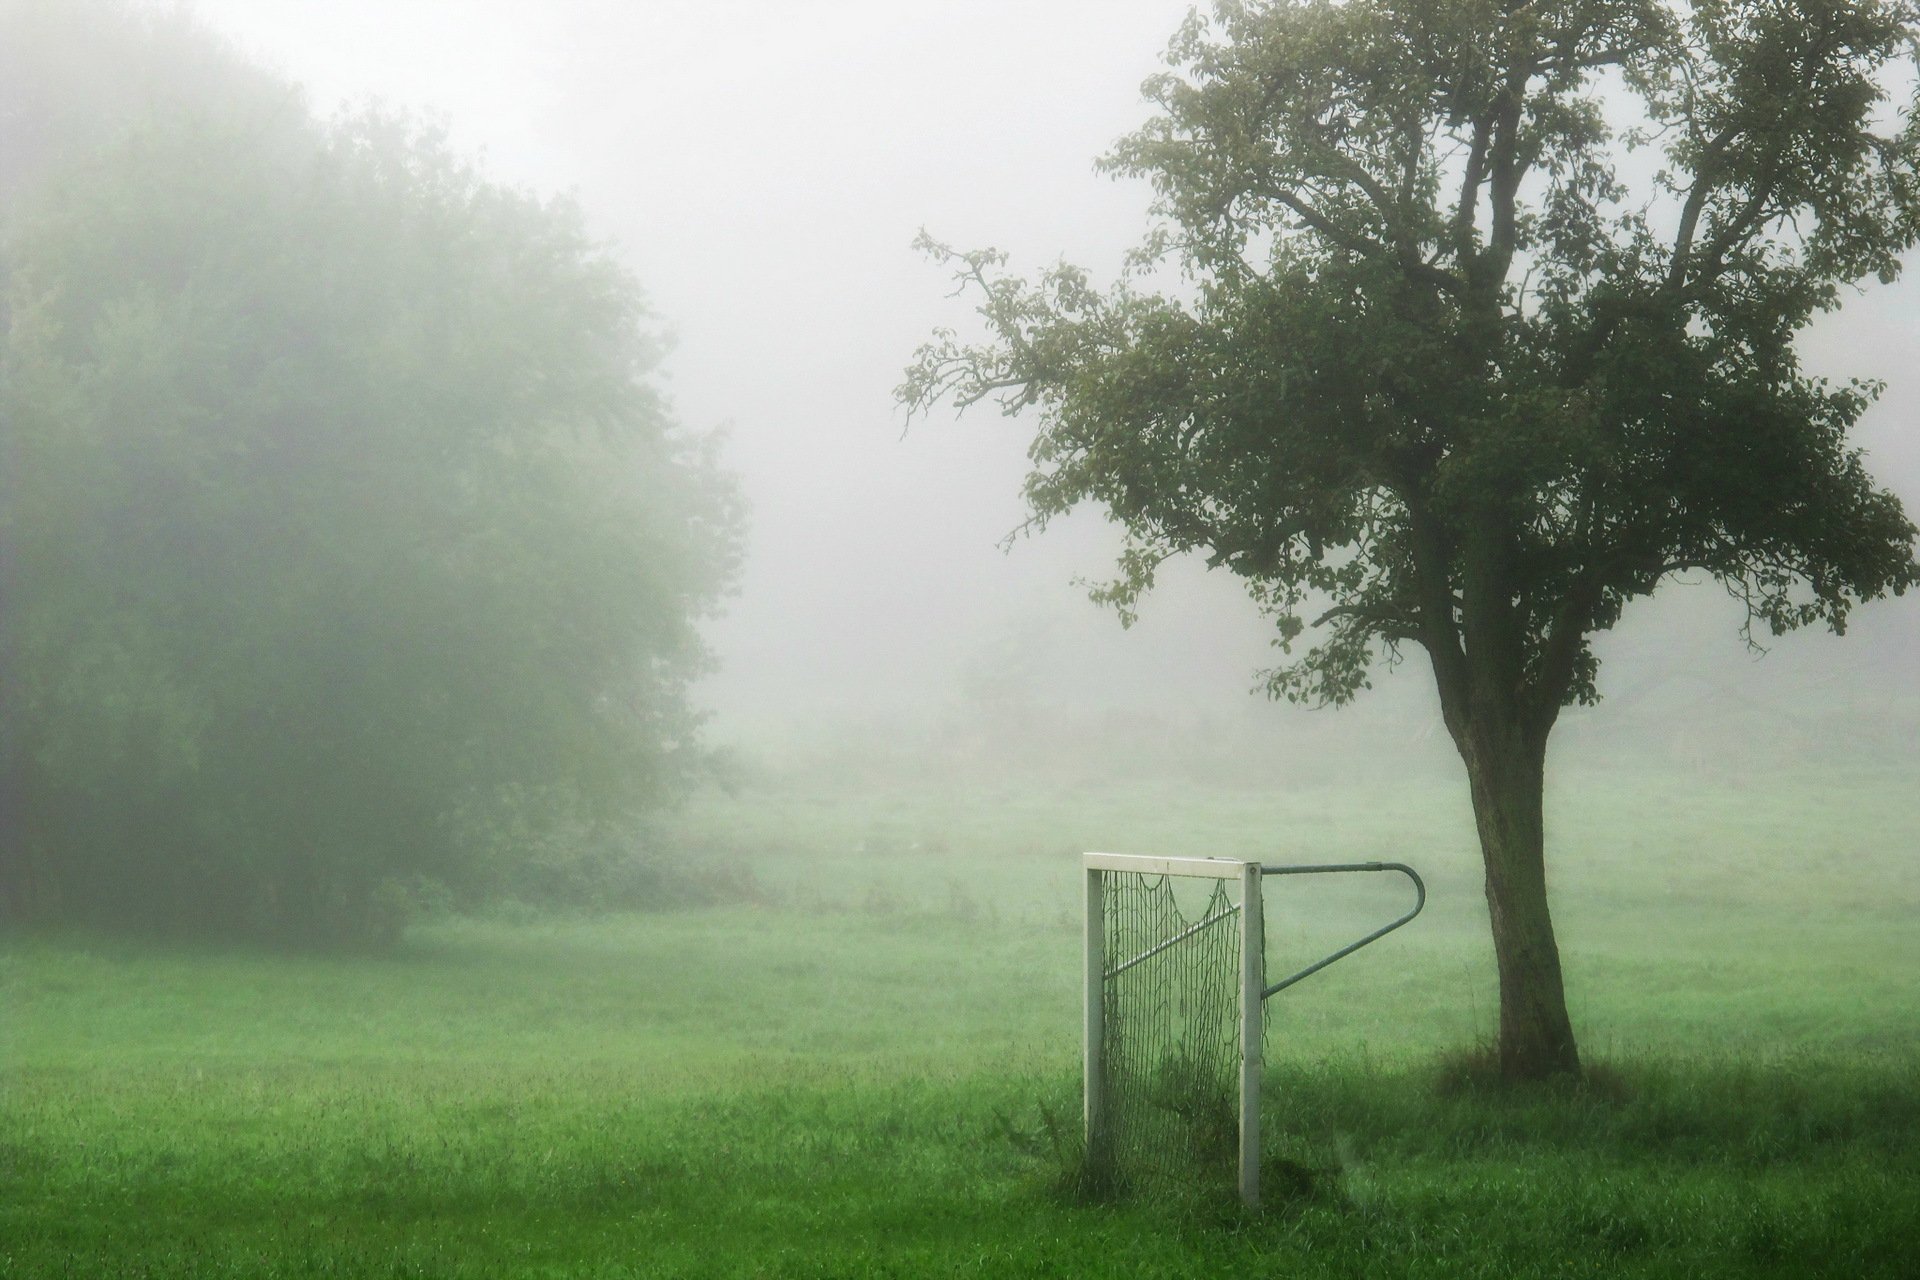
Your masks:
<svg viewBox="0 0 1920 1280"><path fill-rule="evenodd" d="M1087 1159L1152 1184L1196 1167L1238 1169L1260 1203L1265 1002L1352 956L1427 904L1400 862L1279 865L1229 858L1083 854L1087 871ZM1269 875L1398 871L1413 910L1267 983L1261 885Z"/></svg>

